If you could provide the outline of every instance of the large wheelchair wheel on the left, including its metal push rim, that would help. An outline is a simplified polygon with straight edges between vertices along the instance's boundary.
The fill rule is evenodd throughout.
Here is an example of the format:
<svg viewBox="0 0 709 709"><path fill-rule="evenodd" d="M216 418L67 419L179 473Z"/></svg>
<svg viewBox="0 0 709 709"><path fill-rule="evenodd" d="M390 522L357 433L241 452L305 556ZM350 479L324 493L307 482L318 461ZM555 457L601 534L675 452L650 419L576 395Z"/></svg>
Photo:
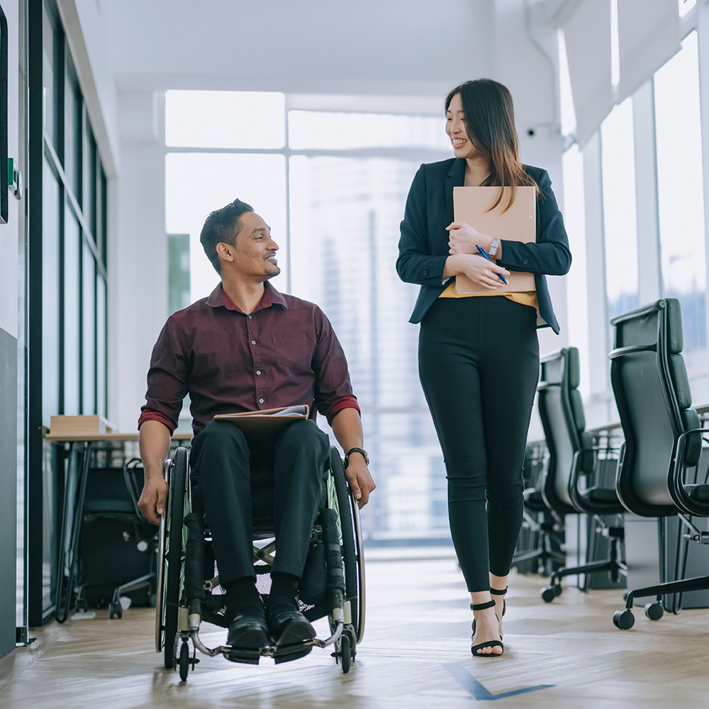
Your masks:
<svg viewBox="0 0 709 709"><path fill-rule="evenodd" d="M185 493L187 488L187 451L178 448L172 464L165 467L168 486L167 512L160 520L157 604L155 607L155 649L164 650L164 665L175 666L179 596L184 557Z"/></svg>

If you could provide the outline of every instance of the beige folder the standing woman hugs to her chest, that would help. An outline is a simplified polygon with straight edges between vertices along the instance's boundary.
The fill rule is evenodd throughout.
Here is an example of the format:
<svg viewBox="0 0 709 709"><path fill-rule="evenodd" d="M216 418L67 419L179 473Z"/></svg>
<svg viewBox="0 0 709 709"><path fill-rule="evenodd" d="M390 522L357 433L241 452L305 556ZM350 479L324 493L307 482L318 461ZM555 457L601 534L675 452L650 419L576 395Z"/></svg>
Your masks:
<svg viewBox="0 0 709 709"><path fill-rule="evenodd" d="M499 187L454 187L453 215L457 222L471 225L481 234L506 241L521 241L528 244L537 240L537 195L535 187L517 188L515 201L503 211L510 200L510 188L505 187L498 206L490 209L500 194ZM504 256L504 246L503 246ZM481 257L482 258L482 257ZM458 293L515 293L535 291L534 274L511 271L506 277L508 285L496 291L481 289L467 276L455 277Z"/></svg>

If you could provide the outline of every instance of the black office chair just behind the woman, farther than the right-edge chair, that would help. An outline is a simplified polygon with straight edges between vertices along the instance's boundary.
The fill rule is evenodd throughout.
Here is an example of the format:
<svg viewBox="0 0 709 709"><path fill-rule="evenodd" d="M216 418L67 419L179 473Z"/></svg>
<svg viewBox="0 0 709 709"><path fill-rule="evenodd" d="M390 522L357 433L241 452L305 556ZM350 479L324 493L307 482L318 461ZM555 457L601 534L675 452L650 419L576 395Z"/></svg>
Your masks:
<svg viewBox="0 0 709 709"><path fill-rule="evenodd" d="M595 446L593 436L585 430L584 406L578 389L579 350L565 347L544 357L541 365L538 405L549 448L542 496L547 506L558 515L590 515L610 543L608 559L581 566L564 566L552 574L549 586L541 592L542 599L551 603L562 593L561 579L564 576L607 571L610 580L617 583L620 576L625 575L627 566L621 560L623 527L608 525L603 520L604 516L620 515L624 511L615 490L599 485L584 487L585 481L598 471L601 451L606 457L613 451L608 446Z"/></svg>

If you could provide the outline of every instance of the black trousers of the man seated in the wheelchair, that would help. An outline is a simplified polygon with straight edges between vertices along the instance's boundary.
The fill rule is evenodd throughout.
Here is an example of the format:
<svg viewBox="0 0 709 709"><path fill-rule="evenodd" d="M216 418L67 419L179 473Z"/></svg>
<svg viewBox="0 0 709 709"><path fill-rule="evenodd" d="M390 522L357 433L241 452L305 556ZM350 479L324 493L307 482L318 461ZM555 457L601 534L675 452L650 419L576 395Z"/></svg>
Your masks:
<svg viewBox="0 0 709 709"><path fill-rule="evenodd" d="M255 576L251 471L273 471L276 558L272 571L303 574L323 496L328 435L311 420L291 423L276 440L247 440L235 425L208 423L192 442L192 484L213 536L220 583Z"/></svg>

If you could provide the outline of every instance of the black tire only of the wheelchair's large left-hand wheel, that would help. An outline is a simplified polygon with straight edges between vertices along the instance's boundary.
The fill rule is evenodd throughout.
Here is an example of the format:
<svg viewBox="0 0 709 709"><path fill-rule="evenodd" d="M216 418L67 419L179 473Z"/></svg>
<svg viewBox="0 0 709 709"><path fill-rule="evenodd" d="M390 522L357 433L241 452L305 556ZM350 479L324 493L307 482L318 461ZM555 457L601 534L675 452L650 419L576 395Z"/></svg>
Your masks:
<svg viewBox="0 0 709 709"><path fill-rule="evenodd" d="M167 501L167 523L164 533L164 564L162 584L162 645L164 665L173 669L177 656L177 631L179 624L180 579L184 559L182 520L187 489L187 451L178 448L169 475L169 496Z"/></svg>

